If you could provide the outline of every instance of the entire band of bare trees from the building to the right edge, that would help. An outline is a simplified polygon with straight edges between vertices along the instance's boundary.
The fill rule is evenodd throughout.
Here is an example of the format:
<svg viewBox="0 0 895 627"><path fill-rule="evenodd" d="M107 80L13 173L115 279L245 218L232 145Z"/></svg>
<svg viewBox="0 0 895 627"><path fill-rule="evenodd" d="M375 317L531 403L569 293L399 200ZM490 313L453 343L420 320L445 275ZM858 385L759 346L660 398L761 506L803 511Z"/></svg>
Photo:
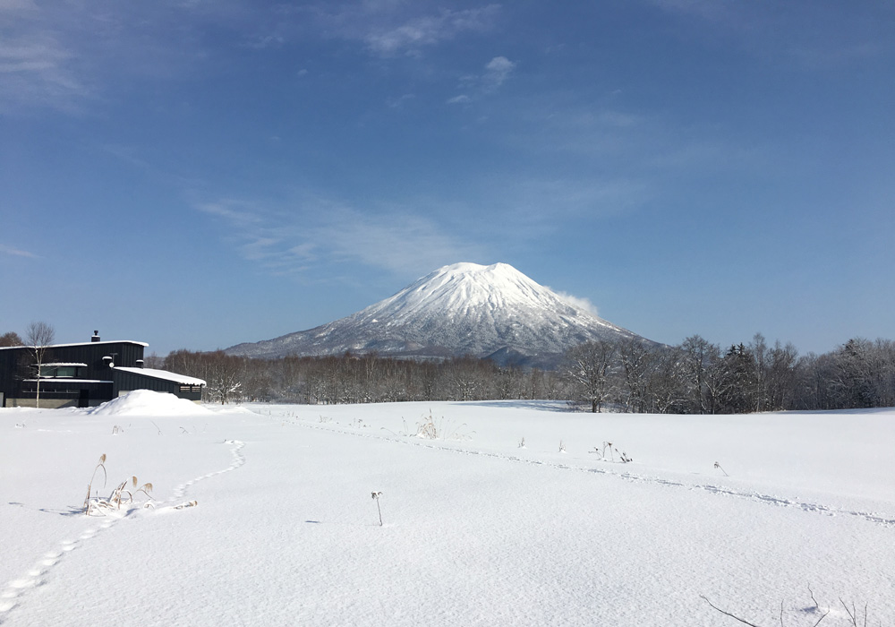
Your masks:
<svg viewBox="0 0 895 627"><path fill-rule="evenodd" d="M222 403L570 399L593 412L665 414L895 407L895 342L888 339L849 339L819 356L770 345L761 334L724 349L698 335L677 346L601 340L568 350L557 370L471 356L259 359L184 349L150 359L204 379L207 400Z"/></svg>

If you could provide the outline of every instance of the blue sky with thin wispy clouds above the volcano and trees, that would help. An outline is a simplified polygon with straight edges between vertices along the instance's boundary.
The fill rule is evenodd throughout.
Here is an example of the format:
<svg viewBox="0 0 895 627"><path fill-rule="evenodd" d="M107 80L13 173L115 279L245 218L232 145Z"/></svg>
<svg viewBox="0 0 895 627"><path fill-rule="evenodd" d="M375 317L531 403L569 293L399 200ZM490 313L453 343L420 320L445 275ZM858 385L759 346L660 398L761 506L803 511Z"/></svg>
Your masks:
<svg viewBox="0 0 895 627"><path fill-rule="evenodd" d="M0 0L0 332L226 348L507 262L650 339L895 338L895 5Z"/></svg>

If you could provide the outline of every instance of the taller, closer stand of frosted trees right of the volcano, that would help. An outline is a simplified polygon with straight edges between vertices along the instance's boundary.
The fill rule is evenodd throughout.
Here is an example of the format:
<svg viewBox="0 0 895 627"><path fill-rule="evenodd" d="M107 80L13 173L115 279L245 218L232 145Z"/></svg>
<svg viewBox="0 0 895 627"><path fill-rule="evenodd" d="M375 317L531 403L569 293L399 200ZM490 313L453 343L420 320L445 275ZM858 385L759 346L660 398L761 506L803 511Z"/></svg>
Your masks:
<svg viewBox="0 0 895 627"><path fill-rule="evenodd" d="M677 346L589 342L571 349L563 372L592 411L735 414L895 406L895 342L849 339L823 355L799 356L759 333L722 350L698 335Z"/></svg>

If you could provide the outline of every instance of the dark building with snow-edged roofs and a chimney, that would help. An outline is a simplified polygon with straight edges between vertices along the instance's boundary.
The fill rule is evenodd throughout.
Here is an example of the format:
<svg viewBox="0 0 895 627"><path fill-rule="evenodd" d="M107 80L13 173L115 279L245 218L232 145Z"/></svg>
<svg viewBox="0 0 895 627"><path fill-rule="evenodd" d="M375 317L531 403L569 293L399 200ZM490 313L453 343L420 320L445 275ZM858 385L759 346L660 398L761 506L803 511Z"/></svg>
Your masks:
<svg viewBox="0 0 895 627"><path fill-rule="evenodd" d="M185 374L143 367L148 345L130 340L48 346L41 359L40 407L93 407L132 390L170 392L198 401L205 382ZM0 407L34 407L38 372L30 347L0 348Z"/></svg>

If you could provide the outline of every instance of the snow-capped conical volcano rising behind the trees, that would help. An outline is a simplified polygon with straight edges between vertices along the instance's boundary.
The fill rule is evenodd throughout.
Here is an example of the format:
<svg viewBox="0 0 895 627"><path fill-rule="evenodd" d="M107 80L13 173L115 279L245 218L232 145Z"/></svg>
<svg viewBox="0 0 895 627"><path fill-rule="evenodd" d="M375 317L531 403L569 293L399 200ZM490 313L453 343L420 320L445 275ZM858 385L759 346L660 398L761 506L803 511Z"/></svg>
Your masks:
<svg viewBox="0 0 895 627"><path fill-rule="evenodd" d="M421 358L473 355L550 367L581 342L638 337L506 263L455 263L341 320L226 352L259 357L345 351Z"/></svg>

